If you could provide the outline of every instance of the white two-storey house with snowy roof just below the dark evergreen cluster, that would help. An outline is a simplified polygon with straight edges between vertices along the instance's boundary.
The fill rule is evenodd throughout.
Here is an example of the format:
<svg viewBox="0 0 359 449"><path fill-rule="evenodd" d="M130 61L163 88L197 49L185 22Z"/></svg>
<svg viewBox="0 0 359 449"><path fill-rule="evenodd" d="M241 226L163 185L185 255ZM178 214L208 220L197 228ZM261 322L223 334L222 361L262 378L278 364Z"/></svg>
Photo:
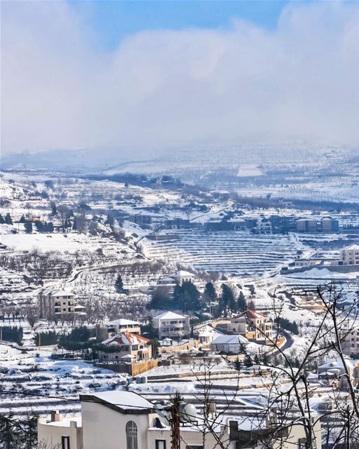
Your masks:
<svg viewBox="0 0 359 449"><path fill-rule="evenodd" d="M154 328L158 338L186 338L189 337L189 316L175 314L172 311L164 311L154 316Z"/></svg>

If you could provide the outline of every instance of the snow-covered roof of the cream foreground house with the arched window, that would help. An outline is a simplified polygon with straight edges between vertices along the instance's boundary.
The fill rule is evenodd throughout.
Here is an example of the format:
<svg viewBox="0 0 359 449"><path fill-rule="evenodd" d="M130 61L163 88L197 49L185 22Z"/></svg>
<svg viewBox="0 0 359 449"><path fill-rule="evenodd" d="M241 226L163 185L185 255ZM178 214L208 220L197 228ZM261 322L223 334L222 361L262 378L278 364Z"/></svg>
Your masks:
<svg viewBox="0 0 359 449"><path fill-rule="evenodd" d="M137 413L141 411L147 411L154 408L154 405L147 401L139 394L133 393L133 391L101 391L90 395L80 395L81 401L92 401L102 403L103 405L109 405L111 408L116 408L123 413L131 413L137 410Z"/></svg>

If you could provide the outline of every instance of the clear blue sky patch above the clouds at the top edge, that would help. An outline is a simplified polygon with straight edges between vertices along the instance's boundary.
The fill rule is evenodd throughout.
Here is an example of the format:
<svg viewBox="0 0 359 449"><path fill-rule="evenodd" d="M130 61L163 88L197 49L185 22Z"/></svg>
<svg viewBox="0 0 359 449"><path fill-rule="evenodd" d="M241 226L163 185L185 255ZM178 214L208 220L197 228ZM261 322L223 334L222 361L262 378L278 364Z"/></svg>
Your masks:
<svg viewBox="0 0 359 449"><path fill-rule="evenodd" d="M123 37L143 29L226 28L235 18L273 29L287 3L283 0L104 0L71 1L69 5L86 14L98 43L112 50Z"/></svg>

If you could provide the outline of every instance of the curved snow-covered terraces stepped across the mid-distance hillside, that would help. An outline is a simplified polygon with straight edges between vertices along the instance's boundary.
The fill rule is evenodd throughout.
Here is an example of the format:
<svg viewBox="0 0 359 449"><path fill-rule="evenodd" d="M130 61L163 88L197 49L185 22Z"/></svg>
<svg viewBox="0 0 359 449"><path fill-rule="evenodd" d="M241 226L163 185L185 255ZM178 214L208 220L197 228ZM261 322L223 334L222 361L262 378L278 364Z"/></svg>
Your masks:
<svg viewBox="0 0 359 449"><path fill-rule="evenodd" d="M292 260L297 245L292 236L177 230L158 240L144 239L142 250L147 257L176 260L196 269L258 276Z"/></svg>

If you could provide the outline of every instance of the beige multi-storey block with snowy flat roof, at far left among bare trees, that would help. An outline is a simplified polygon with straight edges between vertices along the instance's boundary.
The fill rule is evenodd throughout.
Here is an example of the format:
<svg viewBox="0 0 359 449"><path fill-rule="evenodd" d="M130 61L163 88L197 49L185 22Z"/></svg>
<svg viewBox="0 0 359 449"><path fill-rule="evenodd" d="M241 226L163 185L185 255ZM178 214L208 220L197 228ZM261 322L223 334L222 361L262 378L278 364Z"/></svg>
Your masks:
<svg viewBox="0 0 359 449"><path fill-rule="evenodd" d="M74 293L58 288L44 288L38 295L39 316L54 319L75 313Z"/></svg>

